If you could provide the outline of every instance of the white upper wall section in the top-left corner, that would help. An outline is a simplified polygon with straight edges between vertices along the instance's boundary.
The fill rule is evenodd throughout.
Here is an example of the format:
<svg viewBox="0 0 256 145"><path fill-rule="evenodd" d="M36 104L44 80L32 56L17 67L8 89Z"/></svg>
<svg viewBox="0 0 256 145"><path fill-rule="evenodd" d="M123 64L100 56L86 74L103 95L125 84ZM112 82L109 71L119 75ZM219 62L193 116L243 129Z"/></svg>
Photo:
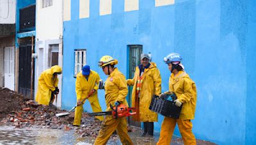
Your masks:
<svg viewBox="0 0 256 145"><path fill-rule="evenodd" d="M0 24L15 24L15 0L0 0Z"/></svg>

